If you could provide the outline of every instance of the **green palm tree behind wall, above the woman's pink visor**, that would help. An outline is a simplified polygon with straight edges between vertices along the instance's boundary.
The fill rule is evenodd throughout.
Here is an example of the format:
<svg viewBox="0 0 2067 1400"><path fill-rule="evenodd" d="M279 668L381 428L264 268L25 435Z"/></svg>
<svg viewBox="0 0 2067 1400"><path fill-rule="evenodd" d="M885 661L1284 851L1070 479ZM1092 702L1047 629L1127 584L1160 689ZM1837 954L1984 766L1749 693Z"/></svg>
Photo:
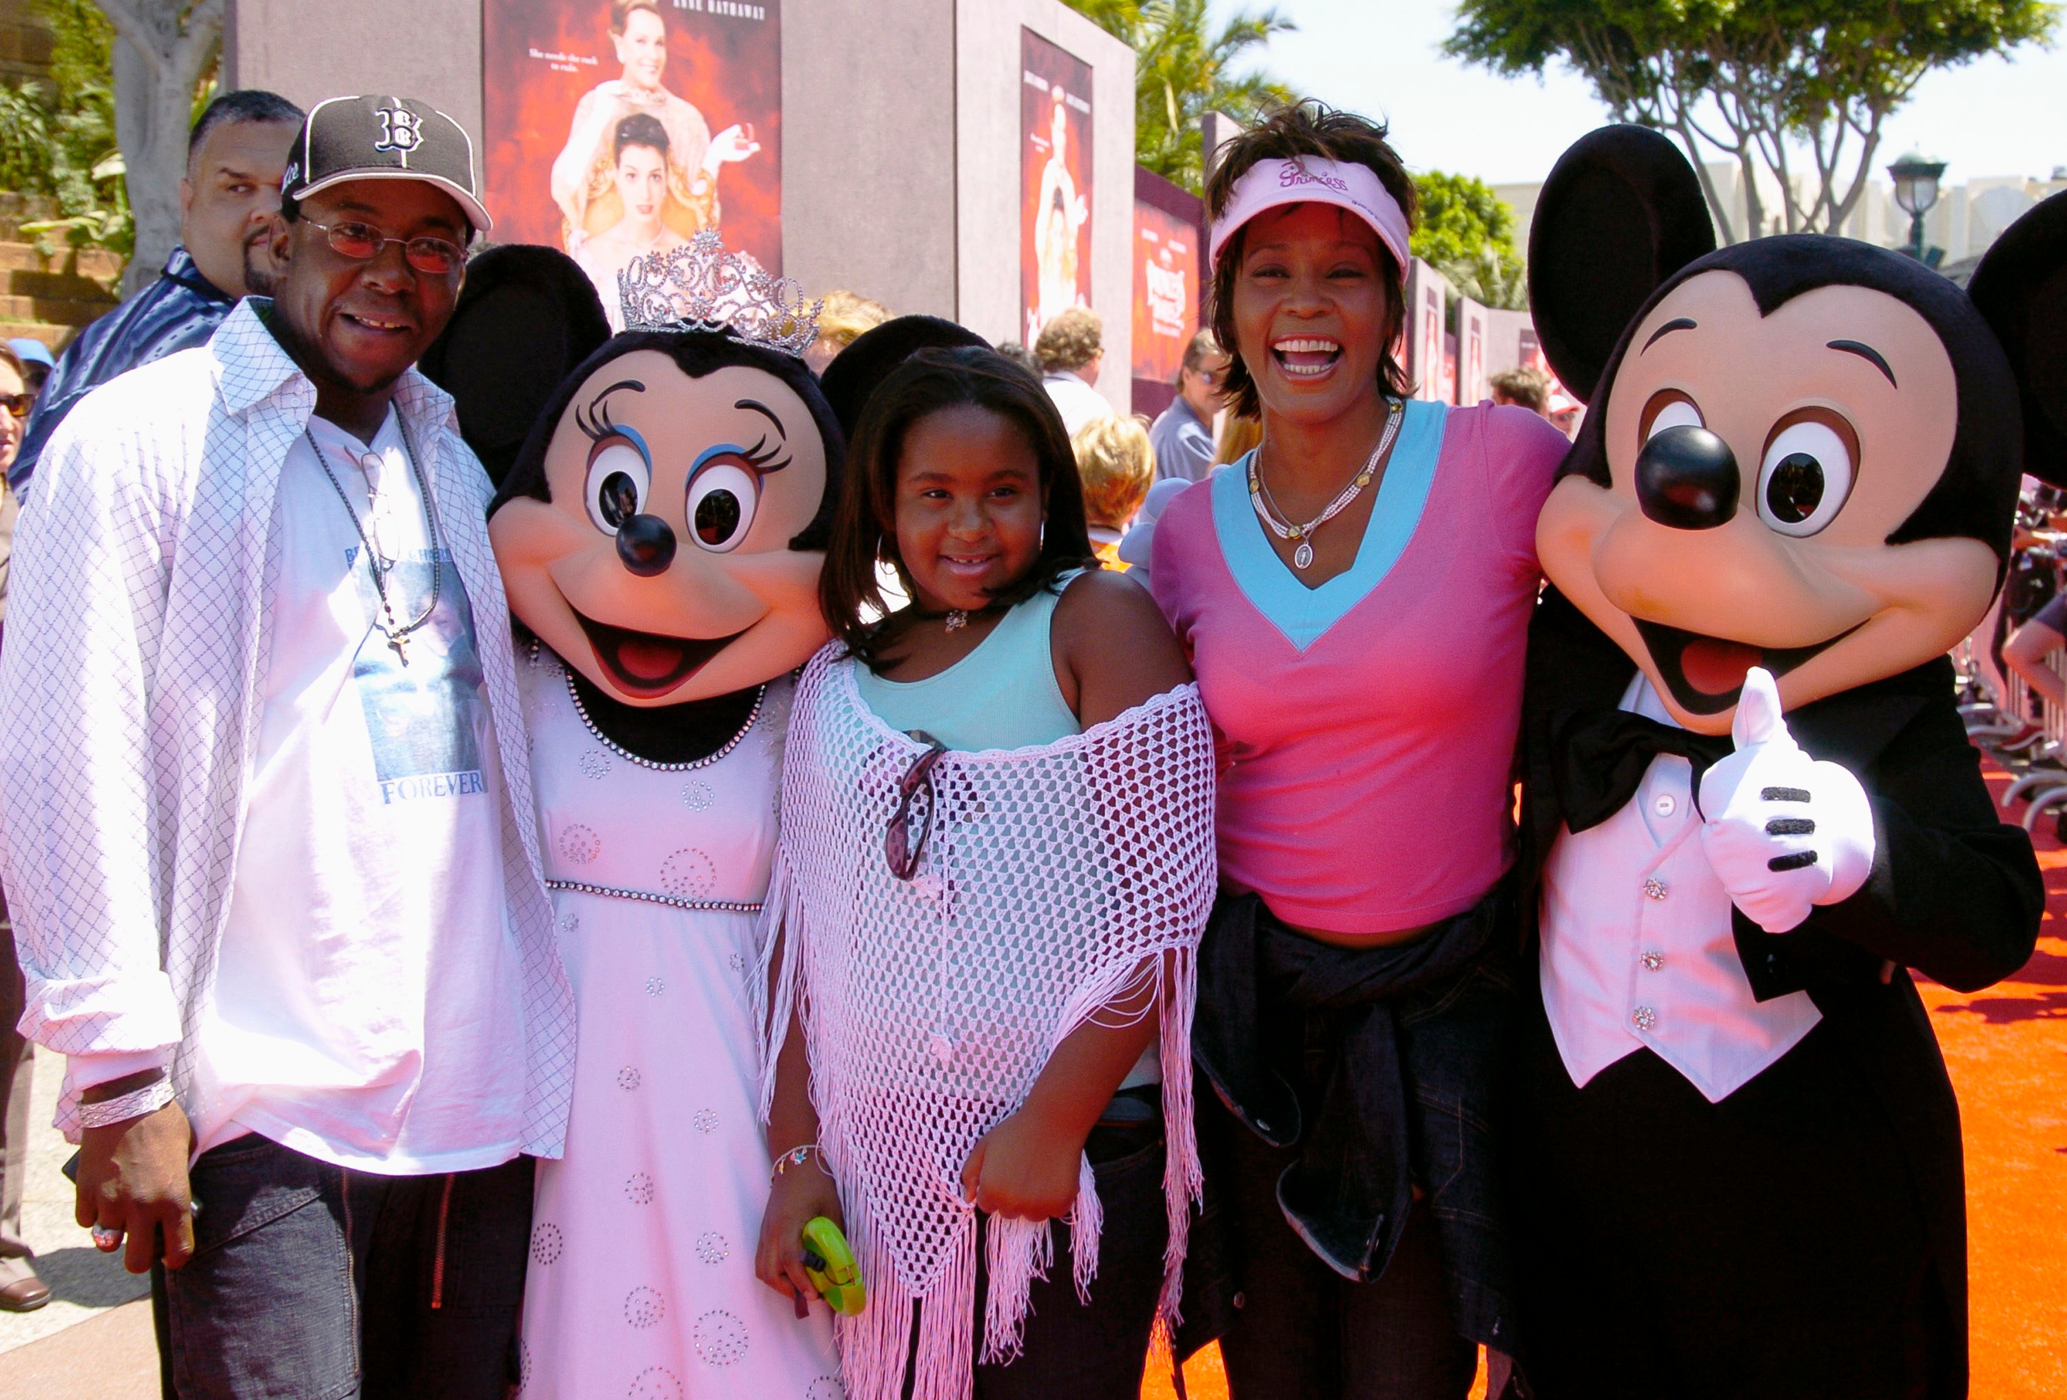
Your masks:
<svg viewBox="0 0 2067 1400"><path fill-rule="evenodd" d="M1294 101L1269 74L1234 68L1271 35L1298 29L1277 6L1240 8L1217 29L1207 0L1067 0L1135 50L1135 159L1193 194L1205 190L1199 122L1222 112L1253 126Z"/></svg>

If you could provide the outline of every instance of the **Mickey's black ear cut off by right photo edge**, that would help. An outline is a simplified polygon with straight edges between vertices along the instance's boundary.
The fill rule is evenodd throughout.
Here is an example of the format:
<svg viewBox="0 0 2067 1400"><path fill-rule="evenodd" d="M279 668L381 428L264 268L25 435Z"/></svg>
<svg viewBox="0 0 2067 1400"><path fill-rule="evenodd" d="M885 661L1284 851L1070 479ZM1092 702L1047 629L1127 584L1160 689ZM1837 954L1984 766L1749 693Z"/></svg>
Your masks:
<svg viewBox="0 0 2067 1400"><path fill-rule="evenodd" d="M2003 229L1966 293L2017 374L2024 471L2067 485L2067 192Z"/></svg>

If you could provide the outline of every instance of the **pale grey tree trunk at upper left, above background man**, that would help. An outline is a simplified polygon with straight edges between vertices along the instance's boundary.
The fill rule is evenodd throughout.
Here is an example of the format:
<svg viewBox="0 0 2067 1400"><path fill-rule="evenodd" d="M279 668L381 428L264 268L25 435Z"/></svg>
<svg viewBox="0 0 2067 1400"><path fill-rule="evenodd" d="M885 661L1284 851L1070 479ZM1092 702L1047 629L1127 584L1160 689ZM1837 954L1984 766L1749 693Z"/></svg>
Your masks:
<svg viewBox="0 0 2067 1400"><path fill-rule="evenodd" d="M215 64L223 0L97 0L122 39L114 45L116 140L128 171L136 252L128 295L157 277L180 242L180 176L194 91Z"/></svg>

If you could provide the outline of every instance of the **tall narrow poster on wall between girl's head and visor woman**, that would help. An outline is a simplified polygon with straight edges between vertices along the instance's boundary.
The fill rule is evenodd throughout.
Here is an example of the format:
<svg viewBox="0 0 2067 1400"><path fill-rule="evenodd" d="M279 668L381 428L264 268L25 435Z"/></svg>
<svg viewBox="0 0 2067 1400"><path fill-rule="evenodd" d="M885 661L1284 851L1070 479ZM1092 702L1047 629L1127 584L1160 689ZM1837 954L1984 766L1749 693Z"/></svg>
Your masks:
<svg viewBox="0 0 2067 1400"><path fill-rule="evenodd" d="M1019 31L1019 306L1025 341L1091 304L1091 64Z"/></svg>

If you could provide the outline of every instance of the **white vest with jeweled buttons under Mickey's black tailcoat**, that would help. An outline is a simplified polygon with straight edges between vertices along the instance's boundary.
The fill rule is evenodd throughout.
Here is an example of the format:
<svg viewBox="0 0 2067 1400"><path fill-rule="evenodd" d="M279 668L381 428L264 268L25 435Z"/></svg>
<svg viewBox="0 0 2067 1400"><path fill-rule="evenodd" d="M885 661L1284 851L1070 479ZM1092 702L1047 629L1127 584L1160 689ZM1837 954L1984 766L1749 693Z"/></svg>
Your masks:
<svg viewBox="0 0 2067 1400"><path fill-rule="evenodd" d="M1639 671L1625 710L1672 723ZM1730 896L1701 851L1693 764L1660 754L1637 795L1583 832L1559 832L1542 882L1550 1035L1581 1088L1649 1049L1722 1103L1821 1020L1807 991L1751 993Z"/></svg>

